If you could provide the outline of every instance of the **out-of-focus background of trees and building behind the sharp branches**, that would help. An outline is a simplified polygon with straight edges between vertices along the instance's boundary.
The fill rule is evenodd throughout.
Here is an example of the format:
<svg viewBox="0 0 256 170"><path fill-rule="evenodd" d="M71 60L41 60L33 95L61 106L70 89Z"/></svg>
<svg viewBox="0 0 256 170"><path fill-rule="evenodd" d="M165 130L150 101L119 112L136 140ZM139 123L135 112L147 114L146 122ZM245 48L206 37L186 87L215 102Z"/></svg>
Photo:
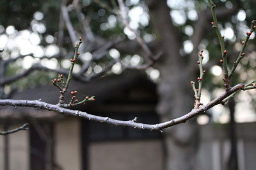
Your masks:
<svg viewBox="0 0 256 170"><path fill-rule="evenodd" d="M74 109L118 120L160 123L193 108L190 81L204 49L202 103L225 91L220 44L208 1L0 1L0 98L57 104L51 80L66 76L83 38L65 96L95 96ZM216 0L230 66L255 19L255 1ZM122 10L124 7L124 10ZM122 13L123 12L123 13ZM122 15L124 14L124 15ZM256 80L255 34L232 86ZM140 41L141 40L141 41ZM0 108L0 169L255 169L255 90L242 91L163 133L136 130L30 108Z"/></svg>

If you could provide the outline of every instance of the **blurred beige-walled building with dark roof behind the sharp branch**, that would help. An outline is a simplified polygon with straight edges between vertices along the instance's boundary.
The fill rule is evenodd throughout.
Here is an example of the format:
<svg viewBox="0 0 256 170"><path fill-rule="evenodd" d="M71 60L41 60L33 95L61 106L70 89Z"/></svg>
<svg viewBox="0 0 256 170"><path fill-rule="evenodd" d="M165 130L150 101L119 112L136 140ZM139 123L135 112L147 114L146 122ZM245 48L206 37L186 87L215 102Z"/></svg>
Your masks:
<svg viewBox="0 0 256 170"><path fill-rule="evenodd" d="M118 120L138 117L141 123L159 123L156 84L137 72L111 75L84 85L72 82L77 98L96 96L95 102L76 107ZM51 95L49 95L51 94ZM13 98L58 102L58 91L40 86ZM71 95L66 95L68 102ZM0 136L0 169L163 169L165 146L160 132L115 127L33 108L1 107L1 129L28 122L29 131ZM10 125L9 125L10 124ZM182 126L182 125L179 125ZM256 166L256 124L237 125L239 169ZM198 169L225 169L230 154L226 125L200 126Z"/></svg>

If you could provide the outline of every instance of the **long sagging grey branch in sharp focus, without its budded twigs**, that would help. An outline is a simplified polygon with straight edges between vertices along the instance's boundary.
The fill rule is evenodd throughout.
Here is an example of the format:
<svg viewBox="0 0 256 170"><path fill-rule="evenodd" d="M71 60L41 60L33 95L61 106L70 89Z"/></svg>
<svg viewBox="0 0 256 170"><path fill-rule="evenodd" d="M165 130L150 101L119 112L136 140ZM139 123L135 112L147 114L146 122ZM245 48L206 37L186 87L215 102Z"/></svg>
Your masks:
<svg viewBox="0 0 256 170"><path fill-rule="evenodd" d="M40 108L40 109L47 109L49 111L60 112L61 114L66 114L66 115L70 115L70 116L79 116L81 118L85 118L85 119L91 120L91 121L109 123L111 125L116 125L116 126L133 127L133 128L143 129L143 130L144 129L156 130L156 131L162 132L162 130L164 128L168 128L168 127L172 127L173 125L184 123L187 120L195 117L196 115L207 111L211 107L214 107L214 105L221 104L222 100L224 100L229 95L232 95L236 91L243 89L243 88L244 88L244 84L237 84L233 88L230 88L228 91L225 91L223 94L221 94L220 97L217 97L214 100L212 100L211 102L209 102L207 105L204 105L204 106L200 107L199 109L192 109L191 112L189 112L188 114L185 114L184 116L181 116L180 118L176 118L176 119L166 121L164 123L159 123L156 125L137 123L136 122L137 118L134 118L134 120L128 120L128 121L113 120L108 117L95 116L92 114L88 114L87 112L66 109L66 108L60 107L59 105L47 104L45 102L40 102L39 100L10 100L10 99L1 100L0 99L0 105L2 105L2 106L11 105L13 107L35 107L35 108Z"/></svg>

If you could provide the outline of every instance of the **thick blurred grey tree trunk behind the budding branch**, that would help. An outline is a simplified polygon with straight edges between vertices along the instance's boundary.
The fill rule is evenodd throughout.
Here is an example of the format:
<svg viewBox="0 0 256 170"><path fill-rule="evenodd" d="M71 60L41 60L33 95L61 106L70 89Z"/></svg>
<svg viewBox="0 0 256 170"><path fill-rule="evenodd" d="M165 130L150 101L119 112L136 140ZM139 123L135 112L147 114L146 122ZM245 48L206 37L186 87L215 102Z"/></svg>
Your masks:
<svg viewBox="0 0 256 170"><path fill-rule="evenodd" d="M194 73L189 72L186 58L179 54L182 42L179 33L172 25L170 8L166 1L147 1L147 3L154 33L159 41L157 49L164 52L157 63L157 68L161 72L161 81L157 87L159 95L157 112L161 121L168 121L186 114L193 108L194 97L190 81L195 79L195 76ZM193 164L197 132L195 119L164 130L165 169L195 168Z"/></svg>

